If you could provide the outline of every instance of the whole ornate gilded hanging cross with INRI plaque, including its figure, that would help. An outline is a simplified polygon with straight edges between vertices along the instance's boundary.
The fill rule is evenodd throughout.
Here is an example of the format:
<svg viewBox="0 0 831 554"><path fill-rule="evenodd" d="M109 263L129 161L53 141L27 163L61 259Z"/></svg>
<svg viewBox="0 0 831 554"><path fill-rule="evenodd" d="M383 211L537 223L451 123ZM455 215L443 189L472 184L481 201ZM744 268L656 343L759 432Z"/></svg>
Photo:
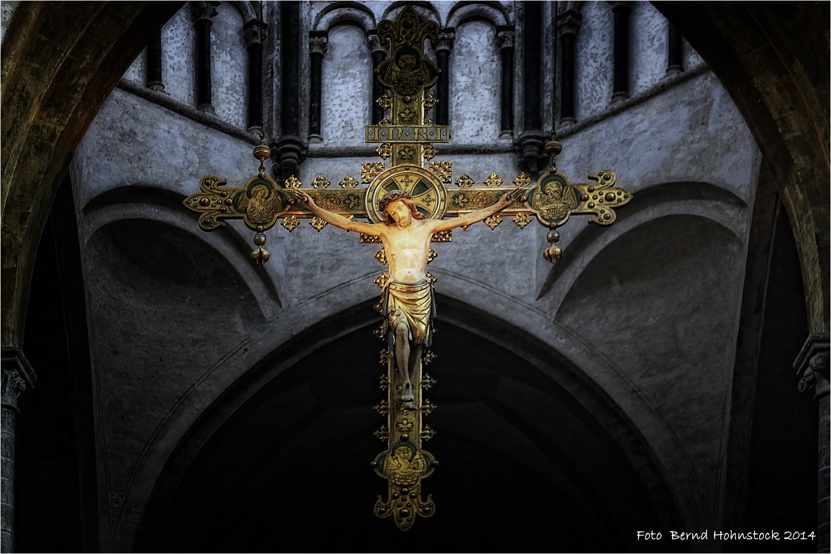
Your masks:
<svg viewBox="0 0 831 554"><path fill-rule="evenodd" d="M428 246L423 260L402 266L397 253L401 248L412 250L407 241L419 233L422 245L450 242L454 227L465 230L484 220L495 230L507 216L523 230L534 216L549 230L549 247L543 257L554 263L562 255L556 245L557 228L571 215L591 214L590 223L611 225L617 217L615 210L632 200L627 190L615 186L617 177L612 171L598 171L588 176L592 182L573 184L553 163L551 171L539 176L533 186L531 178L520 173L514 186L502 189L504 180L492 172L484 179L484 186L475 186L463 173L455 181L456 188L445 188L454 182L452 165L432 160L439 155L435 145L450 141L450 128L425 119L425 111L439 101L427 91L435 86L440 71L425 57L424 44L427 40L435 43L438 35L439 26L421 21L410 6L401 10L395 22L378 24L379 40L390 42L391 55L374 70L381 85L390 90L376 102L388 113L378 125L366 126L366 143L378 144L376 152L382 161L362 163L360 183L347 174L340 188L329 188L331 182L320 174L311 188L302 188L296 176L278 184L264 173L263 161L270 150L260 144L254 149L260 171L245 185L229 187L224 179L205 176L199 181L199 192L183 202L199 215L199 227L205 231L221 229L229 218L242 219L256 233L258 250L252 259L258 265L268 261L268 252L263 250L265 232L278 220L289 232L301 219L310 220L318 233L332 224L356 230L360 244L383 246L375 257L382 265L389 265L389 271L374 280L382 290L375 308L383 317L375 334L386 342L380 357L381 364L386 364L386 374L381 376L386 398L374 408L386 423L373 434L386 441L386 450L376 456L371 467L386 479L387 492L386 498L378 496L373 512L377 517L391 517L401 531L410 530L416 516L435 514L432 497L421 495L421 480L430 477L439 465L422 448L436 433L422 421L435 410L423 391L436 381L422 369L435 359L429 349L434 333L435 278L426 273L425 266L436 254ZM562 146L556 141L546 145L552 161L560 150ZM431 233L430 240L424 233Z"/></svg>

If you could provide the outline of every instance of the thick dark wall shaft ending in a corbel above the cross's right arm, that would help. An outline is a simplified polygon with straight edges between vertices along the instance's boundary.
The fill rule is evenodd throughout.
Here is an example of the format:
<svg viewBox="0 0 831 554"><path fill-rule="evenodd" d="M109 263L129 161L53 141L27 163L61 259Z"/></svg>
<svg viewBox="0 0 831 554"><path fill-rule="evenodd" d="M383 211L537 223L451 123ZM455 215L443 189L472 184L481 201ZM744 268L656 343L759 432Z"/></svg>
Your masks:
<svg viewBox="0 0 831 554"><path fill-rule="evenodd" d="M516 140L522 152L519 166L531 176L548 167L543 146L551 136L543 132L543 2L523 2L523 132Z"/></svg>

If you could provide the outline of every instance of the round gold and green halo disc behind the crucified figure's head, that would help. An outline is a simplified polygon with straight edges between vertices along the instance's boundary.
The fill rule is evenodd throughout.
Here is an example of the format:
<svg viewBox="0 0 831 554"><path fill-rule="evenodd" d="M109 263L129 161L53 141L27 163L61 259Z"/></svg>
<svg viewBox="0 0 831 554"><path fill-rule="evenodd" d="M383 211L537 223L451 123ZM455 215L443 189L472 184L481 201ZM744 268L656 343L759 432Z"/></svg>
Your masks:
<svg viewBox="0 0 831 554"><path fill-rule="evenodd" d="M381 223L380 202L391 190L406 190L413 195L421 215L440 220L447 211L447 190L432 171L419 166L395 166L381 172L366 189L366 213L372 223Z"/></svg>

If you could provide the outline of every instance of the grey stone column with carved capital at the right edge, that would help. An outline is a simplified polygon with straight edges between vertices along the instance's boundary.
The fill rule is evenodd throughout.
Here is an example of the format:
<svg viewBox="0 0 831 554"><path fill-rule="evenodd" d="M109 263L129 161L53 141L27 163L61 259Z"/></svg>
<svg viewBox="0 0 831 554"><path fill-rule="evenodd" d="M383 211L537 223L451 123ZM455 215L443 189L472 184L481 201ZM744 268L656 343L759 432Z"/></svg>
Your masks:
<svg viewBox="0 0 831 554"><path fill-rule="evenodd" d="M815 334L794 361L799 392L814 392L819 404L817 552L829 552L829 334Z"/></svg>

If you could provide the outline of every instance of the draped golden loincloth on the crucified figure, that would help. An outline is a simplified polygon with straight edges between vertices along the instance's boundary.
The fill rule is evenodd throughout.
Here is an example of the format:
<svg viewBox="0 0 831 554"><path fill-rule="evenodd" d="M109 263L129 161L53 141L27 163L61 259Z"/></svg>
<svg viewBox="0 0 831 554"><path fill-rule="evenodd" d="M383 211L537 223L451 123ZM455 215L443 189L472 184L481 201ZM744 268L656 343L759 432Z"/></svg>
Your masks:
<svg viewBox="0 0 831 554"><path fill-rule="evenodd" d="M433 339L431 329L435 315L433 286L427 281L399 283L390 281L383 297L384 334L395 344L395 329L406 324L412 344L430 346Z"/></svg>

